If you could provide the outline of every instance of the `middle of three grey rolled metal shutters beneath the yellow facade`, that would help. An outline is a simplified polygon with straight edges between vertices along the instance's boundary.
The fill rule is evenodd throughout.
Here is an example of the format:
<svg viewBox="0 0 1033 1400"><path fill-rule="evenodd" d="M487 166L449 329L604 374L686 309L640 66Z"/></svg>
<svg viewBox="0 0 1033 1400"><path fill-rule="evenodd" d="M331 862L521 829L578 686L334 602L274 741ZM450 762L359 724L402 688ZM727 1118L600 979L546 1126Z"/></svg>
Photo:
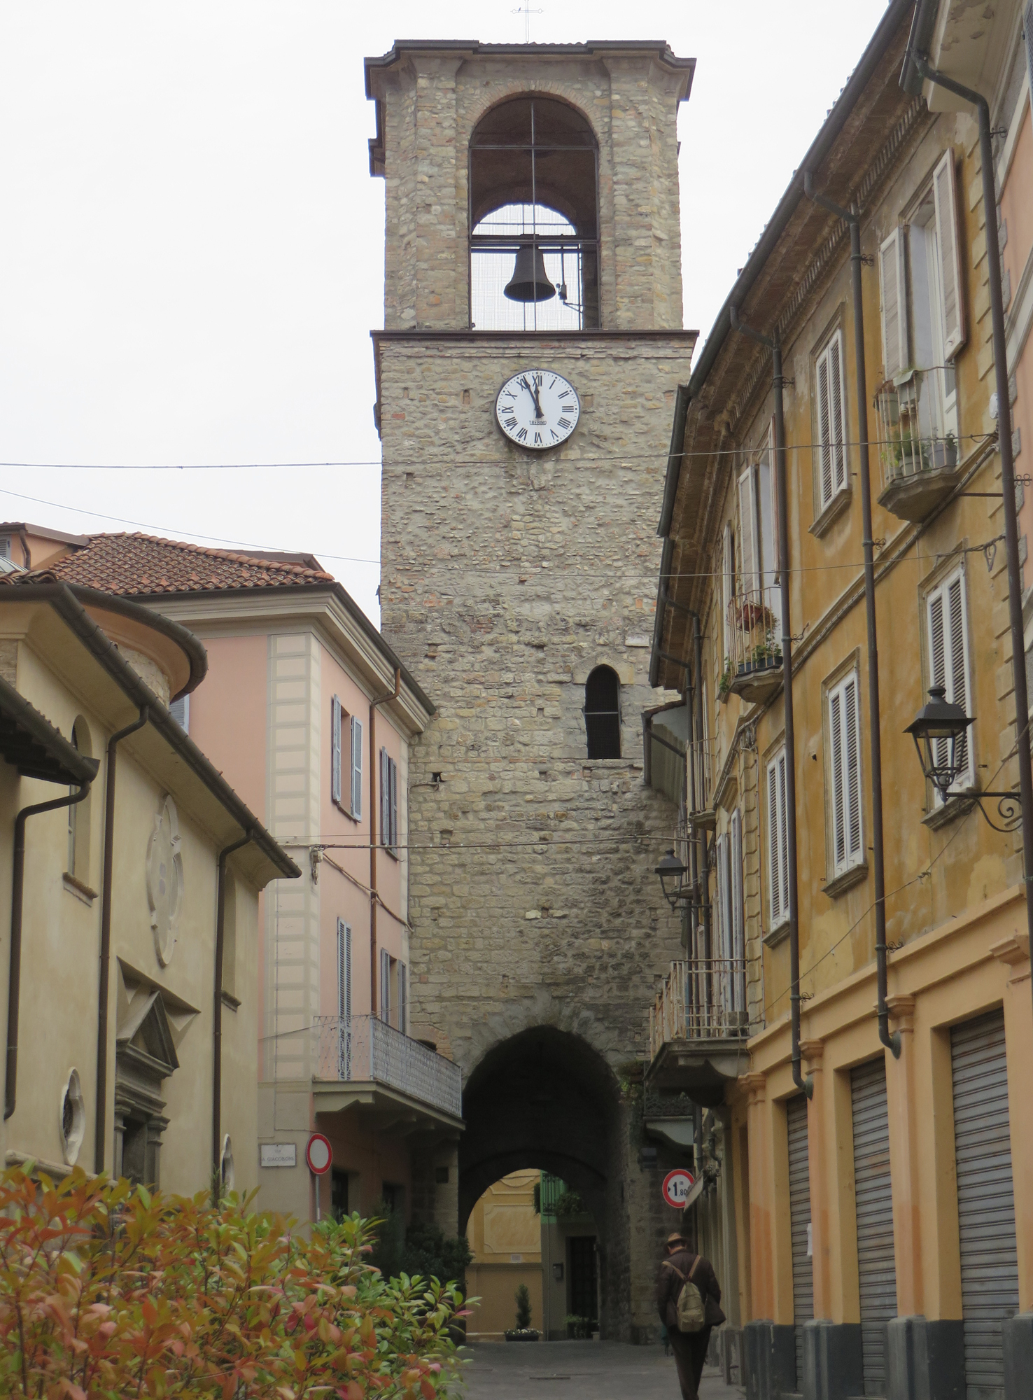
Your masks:
<svg viewBox="0 0 1033 1400"><path fill-rule="evenodd" d="M897 1316L886 1060L879 1056L878 1060L851 1070L850 1091L854 1110L857 1268L865 1394L885 1396L886 1323Z"/></svg>

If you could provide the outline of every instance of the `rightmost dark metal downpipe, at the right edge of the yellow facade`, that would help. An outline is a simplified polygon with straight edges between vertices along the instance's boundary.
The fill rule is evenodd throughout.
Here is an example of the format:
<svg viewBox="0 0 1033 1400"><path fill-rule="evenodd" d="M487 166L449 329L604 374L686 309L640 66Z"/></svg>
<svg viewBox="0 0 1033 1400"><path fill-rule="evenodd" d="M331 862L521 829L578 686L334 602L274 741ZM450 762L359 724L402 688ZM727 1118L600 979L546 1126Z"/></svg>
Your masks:
<svg viewBox="0 0 1033 1400"><path fill-rule="evenodd" d="M1012 678L1015 685L1015 746L1019 759L1019 805L1022 809L1022 865L1026 885L1026 932L1033 946L1033 767L1029 745L1029 693L1026 687L1026 644L1022 626L1022 564L1019 561L1019 521L1015 508L1015 458L1012 452L1012 405L1008 389L1008 342L1005 337L1004 295L1001 291L1001 246L997 235L997 179L990 134L990 105L971 88L929 66L928 55L914 53L914 66L929 83L973 102L980 120L980 157L983 162L983 213L987 234L987 276L990 314L994 328L994 378L997 381L997 437L1001 452L1001 491L1005 515L1005 553L1008 559L1008 615L1012 630ZM1033 983L1030 984L1033 986Z"/></svg>

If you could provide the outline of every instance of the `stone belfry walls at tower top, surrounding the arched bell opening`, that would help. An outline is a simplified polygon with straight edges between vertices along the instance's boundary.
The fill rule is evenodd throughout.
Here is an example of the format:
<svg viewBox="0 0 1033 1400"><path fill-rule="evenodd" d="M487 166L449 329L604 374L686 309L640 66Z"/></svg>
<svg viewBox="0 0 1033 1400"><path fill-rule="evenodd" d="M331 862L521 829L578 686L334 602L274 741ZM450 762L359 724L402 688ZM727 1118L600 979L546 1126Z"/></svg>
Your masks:
<svg viewBox="0 0 1033 1400"><path fill-rule="evenodd" d="M642 52L528 57L406 49L391 70L371 71L385 112L385 326L469 325L470 136L497 102L542 92L578 108L599 143L603 329L679 328L684 71Z"/></svg>

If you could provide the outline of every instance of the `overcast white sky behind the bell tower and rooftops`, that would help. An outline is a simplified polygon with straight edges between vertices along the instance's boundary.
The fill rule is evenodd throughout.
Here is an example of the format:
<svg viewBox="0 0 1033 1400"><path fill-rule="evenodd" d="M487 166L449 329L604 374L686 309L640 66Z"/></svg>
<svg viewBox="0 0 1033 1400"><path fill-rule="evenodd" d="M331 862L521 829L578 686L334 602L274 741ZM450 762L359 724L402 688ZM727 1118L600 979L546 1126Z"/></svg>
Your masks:
<svg viewBox="0 0 1033 1400"><path fill-rule="evenodd" d="M529 3L532 41L697 59L682 241L705 335L883 0ZM384 182L363 57L521 42L515 7L0 0L0 518L309 550L377 620ZM364 465L111 469L330 461Z"/></svg>

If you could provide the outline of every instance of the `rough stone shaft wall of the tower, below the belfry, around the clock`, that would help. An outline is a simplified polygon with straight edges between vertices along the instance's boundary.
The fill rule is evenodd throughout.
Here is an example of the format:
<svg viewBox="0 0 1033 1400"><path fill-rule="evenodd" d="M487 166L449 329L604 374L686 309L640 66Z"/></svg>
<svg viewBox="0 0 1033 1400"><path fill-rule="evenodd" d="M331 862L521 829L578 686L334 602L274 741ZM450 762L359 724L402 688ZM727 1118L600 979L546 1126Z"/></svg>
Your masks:
<svg viewBox="0 0 1033 1400"><path fill-rule="evenodd" d="M385 636L438 713L409 790L412 1033L469 1072L539 1025L612 1067L648 1056L679 921L652 869L675 812L642 783L656 519L693 337L386 337L381 343ZM503 438L518 368L565 374L574 437ZM621 679L621 757L589 762L584 683ZM435 785L434 774L441 774ZM640 1134L614 1152L607 1249L630 1280L613 1326L652 1327L655 1183Z"/></svg>

